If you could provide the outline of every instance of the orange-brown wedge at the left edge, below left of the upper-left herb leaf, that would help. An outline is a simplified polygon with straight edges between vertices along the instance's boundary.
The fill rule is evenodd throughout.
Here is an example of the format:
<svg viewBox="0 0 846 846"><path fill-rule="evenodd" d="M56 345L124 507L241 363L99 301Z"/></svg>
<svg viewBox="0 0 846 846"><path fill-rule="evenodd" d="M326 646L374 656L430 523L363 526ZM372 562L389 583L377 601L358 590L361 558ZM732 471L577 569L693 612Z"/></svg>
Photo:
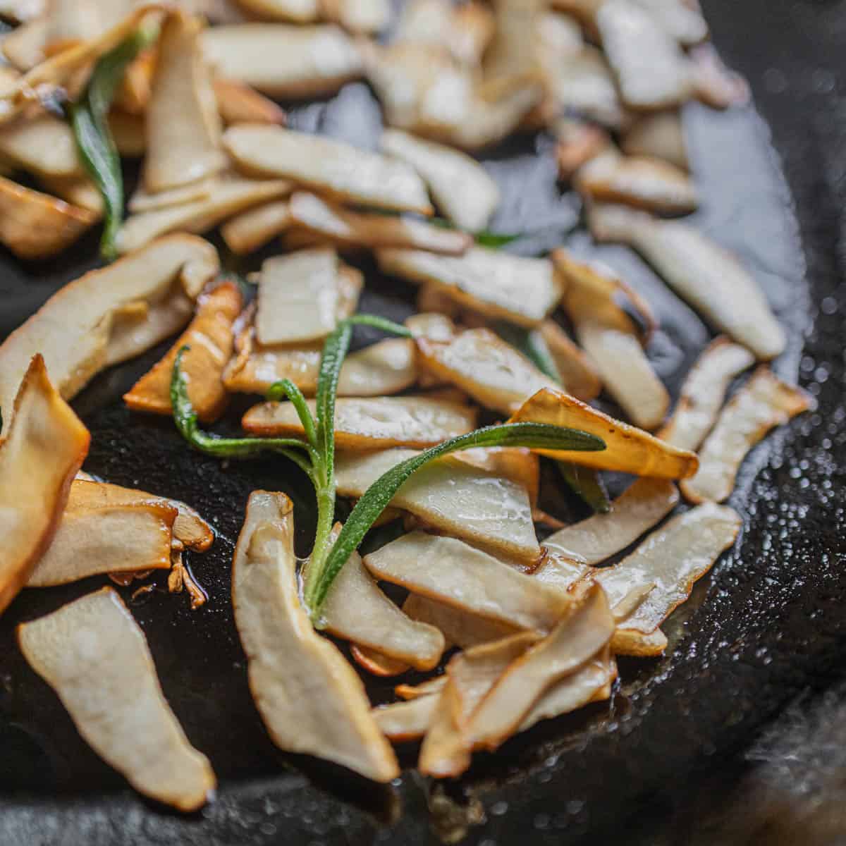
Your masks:
<svg viewBox="0 0 846 846"><path fill-rule="evenodd" d="M0 242L22 259L61 252L96 221L96 214L0 176Z"/></svg>

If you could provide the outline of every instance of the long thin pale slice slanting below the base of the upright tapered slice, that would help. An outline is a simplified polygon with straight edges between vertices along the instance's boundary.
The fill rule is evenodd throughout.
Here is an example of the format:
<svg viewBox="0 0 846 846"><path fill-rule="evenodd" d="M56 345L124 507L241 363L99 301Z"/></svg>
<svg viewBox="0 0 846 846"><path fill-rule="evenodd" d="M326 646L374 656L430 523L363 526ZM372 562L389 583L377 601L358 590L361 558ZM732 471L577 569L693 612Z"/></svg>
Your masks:
<svg viewBox="0 0 846 846"><path fill-rule="evenodd" d="M290 183L284 179L230 175L211 184L208 195L199 200L130 215L118 232L118 251L139 250L169 232L206 232L230 215L287 195L290 190Z"/></svg>

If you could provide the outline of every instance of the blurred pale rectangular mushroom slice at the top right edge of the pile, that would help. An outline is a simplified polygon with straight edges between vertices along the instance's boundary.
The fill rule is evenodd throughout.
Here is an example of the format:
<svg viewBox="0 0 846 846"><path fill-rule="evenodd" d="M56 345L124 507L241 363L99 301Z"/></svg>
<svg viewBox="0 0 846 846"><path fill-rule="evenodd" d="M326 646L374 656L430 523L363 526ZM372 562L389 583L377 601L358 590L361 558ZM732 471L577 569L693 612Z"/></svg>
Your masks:
<svg viewBox="0 0 846 846"><path fill-rule="evenodd" d="M655 17L634 0L606 0L596 13L602 47L627 106L678 106L690 92L684 52Z"/></svg>

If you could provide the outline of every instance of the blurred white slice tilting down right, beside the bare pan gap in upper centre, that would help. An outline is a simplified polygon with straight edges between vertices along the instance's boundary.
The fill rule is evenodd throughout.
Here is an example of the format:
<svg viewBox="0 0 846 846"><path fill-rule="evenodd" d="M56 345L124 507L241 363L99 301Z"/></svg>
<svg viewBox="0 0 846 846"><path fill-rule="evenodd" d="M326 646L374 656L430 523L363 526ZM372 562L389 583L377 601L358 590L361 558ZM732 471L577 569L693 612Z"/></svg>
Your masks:
<svg viewBox="0 0 846 846"><path fill-rule="evenodd" d="M478 232L497 210L497 183L466 153L399 129L382 133L382 150L420 173L437 207L459 229Z"/></svg>

